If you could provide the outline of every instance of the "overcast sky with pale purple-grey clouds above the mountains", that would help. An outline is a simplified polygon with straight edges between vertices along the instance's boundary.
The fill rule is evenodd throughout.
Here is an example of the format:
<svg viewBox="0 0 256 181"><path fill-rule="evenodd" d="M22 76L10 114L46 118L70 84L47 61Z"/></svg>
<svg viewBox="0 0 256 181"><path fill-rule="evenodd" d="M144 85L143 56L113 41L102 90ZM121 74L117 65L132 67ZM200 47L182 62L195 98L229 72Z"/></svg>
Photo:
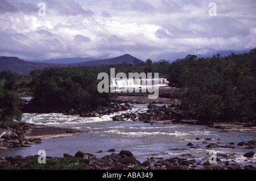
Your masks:
<svg viewBox="0 0 256 181"><path fill-rule="evenodd" d="M256 46L256 1L0 0L0 42L0 56L23 60L238 52Z"/></svg>

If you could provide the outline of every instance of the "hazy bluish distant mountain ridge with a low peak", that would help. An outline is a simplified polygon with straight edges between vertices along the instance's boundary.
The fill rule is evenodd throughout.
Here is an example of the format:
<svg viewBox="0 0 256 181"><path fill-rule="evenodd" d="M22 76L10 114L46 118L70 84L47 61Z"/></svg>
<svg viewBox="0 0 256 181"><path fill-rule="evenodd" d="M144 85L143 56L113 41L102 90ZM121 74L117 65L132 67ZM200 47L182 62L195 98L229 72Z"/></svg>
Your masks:
<svg viewBox="0 0 256 181"><path fill-rule="evenodd" d="M18 57L0 57L0 71L9 70L16 72L18 74L27 75L31 70L44 69L49 67L79 67L79 66L100 66L100 65L117 65L126 62L127 64L134 64L133 61L138 60L138 63L143 62L130 54L124 54L123 56L109 58L105 60L94 60L88 62L81 62L76 64L49 64L40 62L29 62L25 60L20 60Z"/></svg>

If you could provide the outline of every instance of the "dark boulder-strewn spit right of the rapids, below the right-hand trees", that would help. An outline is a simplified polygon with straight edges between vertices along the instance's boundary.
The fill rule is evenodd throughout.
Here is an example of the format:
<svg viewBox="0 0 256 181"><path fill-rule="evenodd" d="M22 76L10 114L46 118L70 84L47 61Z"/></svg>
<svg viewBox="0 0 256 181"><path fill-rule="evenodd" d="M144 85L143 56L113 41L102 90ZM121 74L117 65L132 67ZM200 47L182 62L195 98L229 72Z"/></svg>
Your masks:
<svg viewBox="0 0 256 181"><path fill-rule="evenodd" d="M133 104L126 103L132 108ZM172 103L170 105L157 106L156 104L148 104L147 112L139 113L122 113L121 115L114 116L113 121L143 121L150 124L191 124L191 125L208 125L216 129L222 129L224 132L256 132L255 123L247 122L246 120L218 122L218 121L200 121L188 119L179 110L179 103ZM255 121L254 121L255 122Z"/></svg>

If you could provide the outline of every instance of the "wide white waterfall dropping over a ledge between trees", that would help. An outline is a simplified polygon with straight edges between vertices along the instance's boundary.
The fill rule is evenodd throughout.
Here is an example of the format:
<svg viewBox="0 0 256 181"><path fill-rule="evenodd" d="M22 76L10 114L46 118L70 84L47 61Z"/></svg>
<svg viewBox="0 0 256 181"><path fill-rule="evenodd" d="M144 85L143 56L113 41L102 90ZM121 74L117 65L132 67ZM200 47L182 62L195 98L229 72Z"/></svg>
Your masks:
<svg viewBox="0 0 256 181"><path fill-rule="evenodd" d="M143 88L147 86L165 87L168 86L166 78L148 79L111 79L111 87L121 88Z"/></svg>

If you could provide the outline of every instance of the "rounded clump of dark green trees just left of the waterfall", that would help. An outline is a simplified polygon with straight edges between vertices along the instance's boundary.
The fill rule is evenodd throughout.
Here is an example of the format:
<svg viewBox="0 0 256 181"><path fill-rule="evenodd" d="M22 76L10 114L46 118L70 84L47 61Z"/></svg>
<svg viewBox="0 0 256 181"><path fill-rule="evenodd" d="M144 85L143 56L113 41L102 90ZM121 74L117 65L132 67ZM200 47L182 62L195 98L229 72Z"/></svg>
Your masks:
<svg viewBox="0 0 256 181"><path fill-rule="evenodd" d="M108 106L113 96L97 91L97 74L87 67L33 70L31 76L31 86L34 87L32 104L40 108L78 105L97 108Z"/></svg>

